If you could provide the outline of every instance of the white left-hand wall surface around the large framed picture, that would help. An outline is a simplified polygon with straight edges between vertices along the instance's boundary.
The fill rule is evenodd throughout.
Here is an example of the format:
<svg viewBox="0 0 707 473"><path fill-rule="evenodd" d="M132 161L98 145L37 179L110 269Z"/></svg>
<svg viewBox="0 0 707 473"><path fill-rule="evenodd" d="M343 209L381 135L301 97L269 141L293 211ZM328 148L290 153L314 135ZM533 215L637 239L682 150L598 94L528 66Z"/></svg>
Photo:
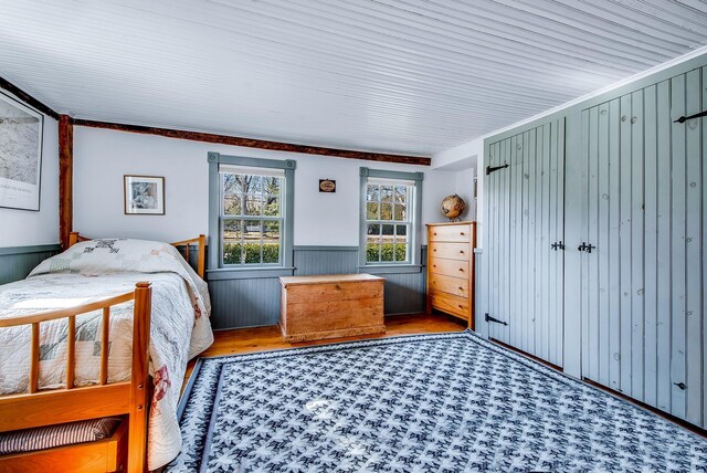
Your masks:
<svg viewBox="0 0 707 473"><path fill-rule="evenodd" d="M0 208L0 248L59 243L59 123L44 117L40 211Z"/></svg>

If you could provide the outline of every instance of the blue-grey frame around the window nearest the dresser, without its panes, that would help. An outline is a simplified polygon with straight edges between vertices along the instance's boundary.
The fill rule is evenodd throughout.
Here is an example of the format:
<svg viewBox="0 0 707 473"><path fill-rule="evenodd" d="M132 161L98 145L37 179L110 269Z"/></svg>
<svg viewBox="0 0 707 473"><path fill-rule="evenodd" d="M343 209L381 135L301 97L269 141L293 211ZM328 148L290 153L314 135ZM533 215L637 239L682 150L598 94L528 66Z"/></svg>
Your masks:
<svg viewBox="0 0 707 473"><path fill-rule="evenodd" d="M392 273L419 273L422 271L420 264L420 243L422 242L421 221L422 221L422 180L424 179L423 172L403 172L403 171L387 171L381 169L360 168L360 188L359 188L359 246L358 246L358 270L359 272L373 273L373 274L392 274ZM367 264L366 262L366 185L368 178L383 178L383 179L401 179L412 180L415 182L415 199L413 210L413 225L412 239L410 241L411 248L411 261L404 264L390 263L390 264Z"/></svg>

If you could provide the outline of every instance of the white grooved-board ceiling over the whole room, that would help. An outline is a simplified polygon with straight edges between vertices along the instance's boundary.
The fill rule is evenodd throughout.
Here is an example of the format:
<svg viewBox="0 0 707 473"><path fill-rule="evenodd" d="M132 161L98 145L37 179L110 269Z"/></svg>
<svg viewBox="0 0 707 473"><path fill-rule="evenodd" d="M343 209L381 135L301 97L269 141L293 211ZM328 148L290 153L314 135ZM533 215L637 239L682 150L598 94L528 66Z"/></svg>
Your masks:
<svg viewBox="0 0 707 473"><path fill-rule="evenodd" d="M707 43L703 0L0 0L78 118L428 155Z"/></svg>

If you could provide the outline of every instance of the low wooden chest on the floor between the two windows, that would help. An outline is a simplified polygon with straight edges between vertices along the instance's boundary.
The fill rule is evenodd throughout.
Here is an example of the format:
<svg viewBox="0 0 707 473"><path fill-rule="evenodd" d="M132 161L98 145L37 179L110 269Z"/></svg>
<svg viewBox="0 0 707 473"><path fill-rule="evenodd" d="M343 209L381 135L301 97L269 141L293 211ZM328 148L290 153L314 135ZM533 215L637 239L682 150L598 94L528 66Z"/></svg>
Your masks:
<svg viewBox="0 0 707 473"><path fill-rule="evenodd" d="M383 277L283 276L279 328L285 341L382 334Z"/></svg>

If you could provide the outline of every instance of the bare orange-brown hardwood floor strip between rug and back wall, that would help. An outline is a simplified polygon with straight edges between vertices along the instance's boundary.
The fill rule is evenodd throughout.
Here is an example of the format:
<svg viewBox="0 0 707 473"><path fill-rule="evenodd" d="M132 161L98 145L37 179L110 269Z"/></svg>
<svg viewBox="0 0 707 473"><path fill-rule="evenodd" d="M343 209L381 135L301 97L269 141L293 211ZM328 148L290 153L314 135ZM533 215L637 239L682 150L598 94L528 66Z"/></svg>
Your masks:
<svg viewBox="0 0 707 473"><path fill-rule="evenodd" d="M466 323L447 315L393 315L386 317L386 333L379 335L359 335L346 338L329 338L316 341L286 343L279 327L271 325L256 328L236 328L233 330L219 330L214 333L214 343L202 353L201 357L213 357L223 355L236 355L253 351L266 351L281 348L306 347L310 345L324 345L338 341L363 340L371 338L392 337L395 335L412 334L434 334L441 332L462 332L466 328ZM192 360L187 367L184 375L186 386L196 361Z"/></svg>

